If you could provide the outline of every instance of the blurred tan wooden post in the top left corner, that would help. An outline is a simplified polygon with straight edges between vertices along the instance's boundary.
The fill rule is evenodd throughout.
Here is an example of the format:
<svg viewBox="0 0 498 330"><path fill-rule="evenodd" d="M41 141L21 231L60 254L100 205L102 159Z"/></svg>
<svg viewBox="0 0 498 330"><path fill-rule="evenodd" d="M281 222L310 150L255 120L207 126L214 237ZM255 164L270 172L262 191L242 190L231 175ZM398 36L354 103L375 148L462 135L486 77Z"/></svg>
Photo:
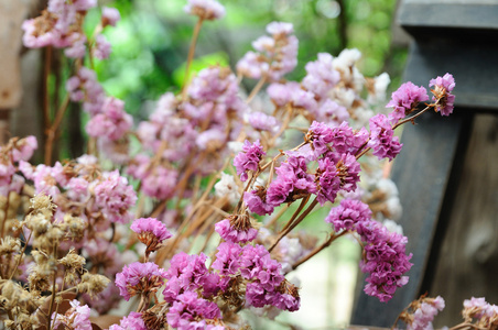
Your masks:
<svg viewBox="0 0 498 330"><path fill-rule="evenodd" d="M29 4L28 0L0 0L0 144L10 138L10 111L21 101L21 25Z"/></svg>

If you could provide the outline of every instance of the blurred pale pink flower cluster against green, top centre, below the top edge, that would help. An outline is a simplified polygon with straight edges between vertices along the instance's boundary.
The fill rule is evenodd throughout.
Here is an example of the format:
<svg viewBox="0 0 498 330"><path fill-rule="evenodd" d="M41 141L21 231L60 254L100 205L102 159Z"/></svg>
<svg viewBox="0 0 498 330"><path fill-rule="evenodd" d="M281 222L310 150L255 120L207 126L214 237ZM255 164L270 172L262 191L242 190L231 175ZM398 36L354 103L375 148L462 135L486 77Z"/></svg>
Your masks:
<svg viewBox="0 0 498 330"><path fill-rule="evenodd" d="M252 79L280 80L297 65L297 38L291 23L272 22L267 25L270 36L261 36L238 63L237 73Z"/></svg>

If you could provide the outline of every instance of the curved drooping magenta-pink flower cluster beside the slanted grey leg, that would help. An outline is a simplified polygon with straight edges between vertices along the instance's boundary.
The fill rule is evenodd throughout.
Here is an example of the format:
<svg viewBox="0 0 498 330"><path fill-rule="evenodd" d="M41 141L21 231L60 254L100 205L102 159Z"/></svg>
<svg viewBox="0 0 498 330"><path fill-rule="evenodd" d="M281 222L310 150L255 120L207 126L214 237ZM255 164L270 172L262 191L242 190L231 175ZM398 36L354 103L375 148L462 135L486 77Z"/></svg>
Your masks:
<svg viewBox="0 0 498 330"><path fill-rule="evenodd" d="M364 242L361 272L368 273L365 293L378 297L380 301L392 298L396 289L408 283L404 274L410 271L412 254L405 254L408 239L389 232L372 220L368 206L358 200L343 199L325 219L335 231L356 231Z"/></svg>

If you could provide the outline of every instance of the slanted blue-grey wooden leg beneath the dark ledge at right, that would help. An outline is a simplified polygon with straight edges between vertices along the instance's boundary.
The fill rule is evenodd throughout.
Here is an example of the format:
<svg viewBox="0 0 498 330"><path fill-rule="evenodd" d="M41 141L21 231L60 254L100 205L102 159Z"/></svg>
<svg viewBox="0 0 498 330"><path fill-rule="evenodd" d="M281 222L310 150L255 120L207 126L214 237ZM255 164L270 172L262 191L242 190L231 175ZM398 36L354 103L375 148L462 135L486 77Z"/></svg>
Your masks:
<svg viewBox="0 0 498 330"><path fill-rule="evenodd" d="M400 223L409 238L407 251L413 253L414 265L408 274L410 282L391 301L379 302L361 293L353 312L354 324L390 327L399 312L419 296L446 188L465 148L463 138L470 119L456 112L450 118L430 113L421 117L416 125L404 128L404 151L394 161L392 179L403 206Z"/></svg>

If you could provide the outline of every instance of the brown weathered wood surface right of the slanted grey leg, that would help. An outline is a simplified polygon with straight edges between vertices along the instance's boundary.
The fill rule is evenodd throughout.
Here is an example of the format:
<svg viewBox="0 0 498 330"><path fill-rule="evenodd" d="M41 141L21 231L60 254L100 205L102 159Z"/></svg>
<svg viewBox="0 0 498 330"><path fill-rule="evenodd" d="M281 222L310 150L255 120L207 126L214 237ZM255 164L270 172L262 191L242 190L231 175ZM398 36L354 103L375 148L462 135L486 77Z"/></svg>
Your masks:
<svg viewBox="0 0 498 330"><path fill-rule="evenodd" d="M461 321L464 299L498 304L498 118L477 116L430 294L446 299L436 326Z"/></svg>

